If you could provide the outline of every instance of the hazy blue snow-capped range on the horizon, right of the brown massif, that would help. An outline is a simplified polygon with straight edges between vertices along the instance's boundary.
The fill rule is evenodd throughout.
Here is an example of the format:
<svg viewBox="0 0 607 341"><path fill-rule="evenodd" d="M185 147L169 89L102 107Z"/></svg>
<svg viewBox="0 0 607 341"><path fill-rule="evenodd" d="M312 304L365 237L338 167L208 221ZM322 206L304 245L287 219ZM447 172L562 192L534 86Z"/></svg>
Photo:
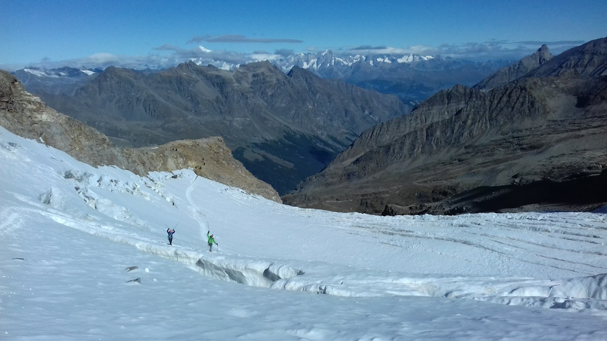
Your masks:
<svg viewBox="0 0 607 341"><path fill-rule="evenodd" d="M354 55L340 57L327 50L299 53L274 64L288 70L299 66L322 78L338 78L364 89L391 93L405 103L419 103L455 84L473 86L513 61L472 62L429 55Z"/></svg>

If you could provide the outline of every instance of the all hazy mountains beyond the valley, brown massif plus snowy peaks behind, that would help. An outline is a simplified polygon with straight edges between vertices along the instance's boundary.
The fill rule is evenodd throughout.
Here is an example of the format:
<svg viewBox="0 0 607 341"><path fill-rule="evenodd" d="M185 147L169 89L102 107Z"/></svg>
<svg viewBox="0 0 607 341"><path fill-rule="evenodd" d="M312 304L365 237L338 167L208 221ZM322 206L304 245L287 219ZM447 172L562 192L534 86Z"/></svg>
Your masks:
<svg viewBox="0 0 607 341"><path fill-rule="evenodd" d="M118 146L222 136L247 169L286 194L364 129L409 113L440 89L475 84L505 61L339 57L328 50L273 64L226 66L230 70L201 63L194 59L167 70L26 68L13 74L50 107ZM396 95L402 103L361 88Z"/></svg>

